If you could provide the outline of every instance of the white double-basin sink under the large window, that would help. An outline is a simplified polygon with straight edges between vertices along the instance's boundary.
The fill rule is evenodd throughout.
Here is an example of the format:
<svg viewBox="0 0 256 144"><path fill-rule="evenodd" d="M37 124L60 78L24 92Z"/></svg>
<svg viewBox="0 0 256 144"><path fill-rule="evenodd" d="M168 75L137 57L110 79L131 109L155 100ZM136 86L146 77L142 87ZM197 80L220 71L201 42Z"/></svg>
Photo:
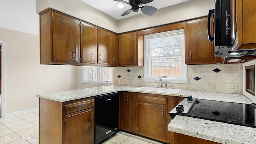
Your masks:
<svg viewBox="0 0 256 144"><path fill-rule="evenodd" d="M135 88L134 90L148 91L148 92L163 92L170 94L178 94L182 89L167 89L167 88L153 88L153 87L140 87Z"/></svg>

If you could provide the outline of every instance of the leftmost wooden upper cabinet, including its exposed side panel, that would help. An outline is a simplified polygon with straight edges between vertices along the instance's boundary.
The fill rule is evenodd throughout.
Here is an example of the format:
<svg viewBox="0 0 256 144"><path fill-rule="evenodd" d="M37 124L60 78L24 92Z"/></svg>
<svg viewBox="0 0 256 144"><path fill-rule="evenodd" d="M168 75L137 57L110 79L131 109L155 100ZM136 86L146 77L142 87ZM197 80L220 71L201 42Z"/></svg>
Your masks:
<svg viewBox="0 0 256 144"><path fill-rule="evenodd" d="M79 21L48 10L40 13L40 64L74 64L80 47Z"/></svg>

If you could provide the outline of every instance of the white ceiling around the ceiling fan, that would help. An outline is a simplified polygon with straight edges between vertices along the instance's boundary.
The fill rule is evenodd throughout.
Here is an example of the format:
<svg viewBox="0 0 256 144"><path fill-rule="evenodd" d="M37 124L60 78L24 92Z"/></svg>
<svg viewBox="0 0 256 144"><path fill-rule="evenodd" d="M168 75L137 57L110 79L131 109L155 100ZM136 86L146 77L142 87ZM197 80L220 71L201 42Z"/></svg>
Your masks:
<svg viewBox="0 0 256 144"><path fill-rule="evenodd" d="M128 18L128 17L137 15L137 12L131 12L126 16L121 16L121 14L124 13L126 10L129 10L131 6L129 4L116 2L114 0L81 0L81 1L104 12L105 14L108 14L109 16L115 18L116 20L121 20L123 18ZM129 2L129 0L124 0L124 1ZM160 8L165 8L168 6L180 4L182 2L187 2L187 1L190 1L190 0L154 0L148 4L143 4L143 6L154 6L155 8L160 9ZM117 4L124 4L124 8L117 8L116 7ZM143 14L143 13L141 12L141 10L139 10L138 14Z"/></svg>

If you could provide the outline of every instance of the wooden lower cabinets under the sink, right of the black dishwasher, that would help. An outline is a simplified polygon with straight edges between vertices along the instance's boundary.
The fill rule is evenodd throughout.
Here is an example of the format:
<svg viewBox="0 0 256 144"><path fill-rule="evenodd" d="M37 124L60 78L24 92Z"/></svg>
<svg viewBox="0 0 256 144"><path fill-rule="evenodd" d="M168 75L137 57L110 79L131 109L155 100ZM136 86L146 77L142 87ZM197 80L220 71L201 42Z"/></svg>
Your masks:
<svg viewBox="0 0 256 144"><path fill-rule="evenodd" d="M172 144L167 126L174 103L173 96L121 92L120 129Z"/></svg>

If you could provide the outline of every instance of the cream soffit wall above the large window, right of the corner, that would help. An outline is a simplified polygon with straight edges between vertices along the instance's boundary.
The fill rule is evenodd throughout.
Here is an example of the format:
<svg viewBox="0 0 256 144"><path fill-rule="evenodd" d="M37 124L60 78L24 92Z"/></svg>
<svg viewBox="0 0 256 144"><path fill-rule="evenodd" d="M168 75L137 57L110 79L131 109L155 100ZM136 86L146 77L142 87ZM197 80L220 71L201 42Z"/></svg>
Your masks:
<svg viewBox="0 0 256 144"><path fill-rule="evenodd" d="M138 29L206 16L210 9L214 9L214 0L190 0L161 8L153 16L138 15ZM131 30L137 30L137 16L118 20L118 33Z"/></svg>

